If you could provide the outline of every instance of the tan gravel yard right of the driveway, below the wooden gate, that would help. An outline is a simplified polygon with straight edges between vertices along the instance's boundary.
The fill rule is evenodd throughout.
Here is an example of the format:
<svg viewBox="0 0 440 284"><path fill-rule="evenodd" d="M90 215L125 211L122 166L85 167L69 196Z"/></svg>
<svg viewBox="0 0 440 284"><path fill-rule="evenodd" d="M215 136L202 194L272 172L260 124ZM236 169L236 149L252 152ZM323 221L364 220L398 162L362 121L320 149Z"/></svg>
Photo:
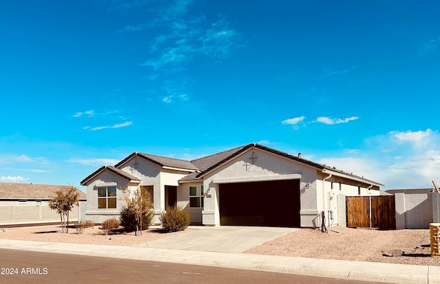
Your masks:
<svg viewBox="0 0 440 284"><path fill-rule="evenodd" d="M440 257L430 256L429 229L333 227L329 233L321 233L319 230L303 228L246 250L245 253L440 266Z"/></svg>

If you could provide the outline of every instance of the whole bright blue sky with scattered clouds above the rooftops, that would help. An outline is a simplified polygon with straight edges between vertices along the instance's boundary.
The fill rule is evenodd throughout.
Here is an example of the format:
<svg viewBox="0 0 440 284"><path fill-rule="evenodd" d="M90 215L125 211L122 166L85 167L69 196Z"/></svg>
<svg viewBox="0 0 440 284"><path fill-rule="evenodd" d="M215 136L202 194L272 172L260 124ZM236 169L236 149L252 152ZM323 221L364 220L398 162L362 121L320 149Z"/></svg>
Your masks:
<svg viewBox="0 0 440 284"><path fill-rule="evenodd" d="M440 182L439 1L0 3L0 182L248 143ZM84 190L84 189L83 189Z"/></svg>

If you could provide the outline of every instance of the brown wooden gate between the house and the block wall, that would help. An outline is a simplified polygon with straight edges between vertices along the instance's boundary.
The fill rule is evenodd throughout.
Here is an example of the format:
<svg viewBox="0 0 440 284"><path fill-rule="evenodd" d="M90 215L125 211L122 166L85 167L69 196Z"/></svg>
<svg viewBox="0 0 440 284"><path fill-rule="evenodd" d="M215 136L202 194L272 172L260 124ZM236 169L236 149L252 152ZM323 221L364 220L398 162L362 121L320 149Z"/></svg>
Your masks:
<svg viewBox="0 0 440 284"><path fill-rule="evenodd" d="M394 196L347 196L347 227L395 229Z"/></svg>

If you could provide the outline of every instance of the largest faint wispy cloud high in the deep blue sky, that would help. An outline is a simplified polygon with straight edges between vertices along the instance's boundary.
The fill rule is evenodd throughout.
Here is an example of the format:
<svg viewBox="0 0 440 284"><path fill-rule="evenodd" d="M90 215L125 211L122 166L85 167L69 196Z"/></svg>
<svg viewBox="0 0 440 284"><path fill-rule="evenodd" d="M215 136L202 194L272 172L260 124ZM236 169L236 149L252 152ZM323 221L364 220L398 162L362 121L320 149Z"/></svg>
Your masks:
<svg viewBox="0 0 440 284"><path fill-rule="evenodd" d="M149 24L127 26L120 32L133 32L161 27L168 32L155 36L151 44L151 58L141 65L155 71L165 67L185 69L196 55L215 61L230 57L232 50L243 45L241 34L232 28L225 16L208 23L205 16L187 16L192 1L175 1L157 8L157 16Z"/></svg>

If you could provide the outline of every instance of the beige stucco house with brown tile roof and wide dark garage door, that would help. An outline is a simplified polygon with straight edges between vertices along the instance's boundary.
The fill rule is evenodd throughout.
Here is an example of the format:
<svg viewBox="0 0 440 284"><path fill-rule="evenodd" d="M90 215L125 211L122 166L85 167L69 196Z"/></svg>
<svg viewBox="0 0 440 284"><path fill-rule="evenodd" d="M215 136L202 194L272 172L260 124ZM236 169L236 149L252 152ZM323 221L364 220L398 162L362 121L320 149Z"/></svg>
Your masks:
<svg viewBox="0 0 440 284"><path fill-rule="evenodd" d="M178 204L193 224L320 226L337 224L336 196L379 196L384 185L256 143L184 161L134 152L87 176L85 218L118 218L126 189L153 196L155 222Z"/></svg>

